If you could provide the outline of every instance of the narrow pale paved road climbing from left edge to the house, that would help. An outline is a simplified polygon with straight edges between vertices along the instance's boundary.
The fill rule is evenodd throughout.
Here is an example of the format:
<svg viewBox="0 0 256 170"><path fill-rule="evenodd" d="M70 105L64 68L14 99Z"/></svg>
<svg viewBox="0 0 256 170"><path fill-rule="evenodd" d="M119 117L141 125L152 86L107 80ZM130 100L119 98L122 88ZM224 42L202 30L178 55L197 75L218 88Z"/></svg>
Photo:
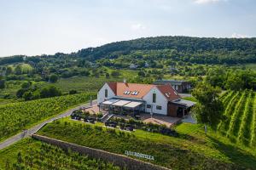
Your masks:
<svg viewBox="0 0 256 170"><path fill-rule="evenodd" d="M96 105L96 100L93 100L92 105ZM90 103L87 103L87 104L84 104L84 105L79 105L78 107L75 107L75 108L73 108L71 110L68 110L65 113L61 114L61 115L52 117L52 118L50 118L47 121L44 121L44 122L42 122L42 123L40 123L40 124L38 124L38 125L36 125L34 127L29 128L25 132L18 133L15 136L12 136L9 139L6 139L2 143L0 143L0 150L2 150L3 148L8 147L11 144L14 144L15 142L19 141L20 139L23 139L23 138L31 136L33 133L37 133L40 128L44 127L44 125L49 123L49 122L53 122L54 120L60 119L62 117L70 116L71 113L74 110L77 110L80 107L89 107L89 106L90 106Z"/></svg>

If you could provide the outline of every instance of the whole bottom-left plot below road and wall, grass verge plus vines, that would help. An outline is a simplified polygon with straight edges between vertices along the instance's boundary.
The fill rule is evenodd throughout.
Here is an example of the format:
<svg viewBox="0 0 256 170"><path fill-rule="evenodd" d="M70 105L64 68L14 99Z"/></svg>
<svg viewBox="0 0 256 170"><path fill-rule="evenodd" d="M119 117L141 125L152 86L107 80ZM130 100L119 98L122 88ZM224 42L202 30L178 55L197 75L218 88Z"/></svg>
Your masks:
<svg viewBox="0 0 256 170"><path fill-rule="evenodd" d="M118 170L120 168L35 139L23 139L9 148L0 150L0 169Z"/></svg>

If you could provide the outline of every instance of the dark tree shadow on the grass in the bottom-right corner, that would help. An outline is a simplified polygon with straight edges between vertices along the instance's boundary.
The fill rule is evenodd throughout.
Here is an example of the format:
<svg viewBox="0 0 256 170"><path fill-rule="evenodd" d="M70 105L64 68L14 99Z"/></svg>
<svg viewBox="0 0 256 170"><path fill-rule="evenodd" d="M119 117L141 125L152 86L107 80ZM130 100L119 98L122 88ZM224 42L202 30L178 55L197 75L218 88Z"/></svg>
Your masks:
<svg viewBox="0 0 256 170"><path fill-rule="evenodd" d="M222 152L225 156L230 158L230 161L236 165L241 166L240 168L256 169L256 156L247 153L245 150L241 150L231 144L224 144L218 139L214 139L211 136L207 136L212 140L215 148Z"/></svg>

